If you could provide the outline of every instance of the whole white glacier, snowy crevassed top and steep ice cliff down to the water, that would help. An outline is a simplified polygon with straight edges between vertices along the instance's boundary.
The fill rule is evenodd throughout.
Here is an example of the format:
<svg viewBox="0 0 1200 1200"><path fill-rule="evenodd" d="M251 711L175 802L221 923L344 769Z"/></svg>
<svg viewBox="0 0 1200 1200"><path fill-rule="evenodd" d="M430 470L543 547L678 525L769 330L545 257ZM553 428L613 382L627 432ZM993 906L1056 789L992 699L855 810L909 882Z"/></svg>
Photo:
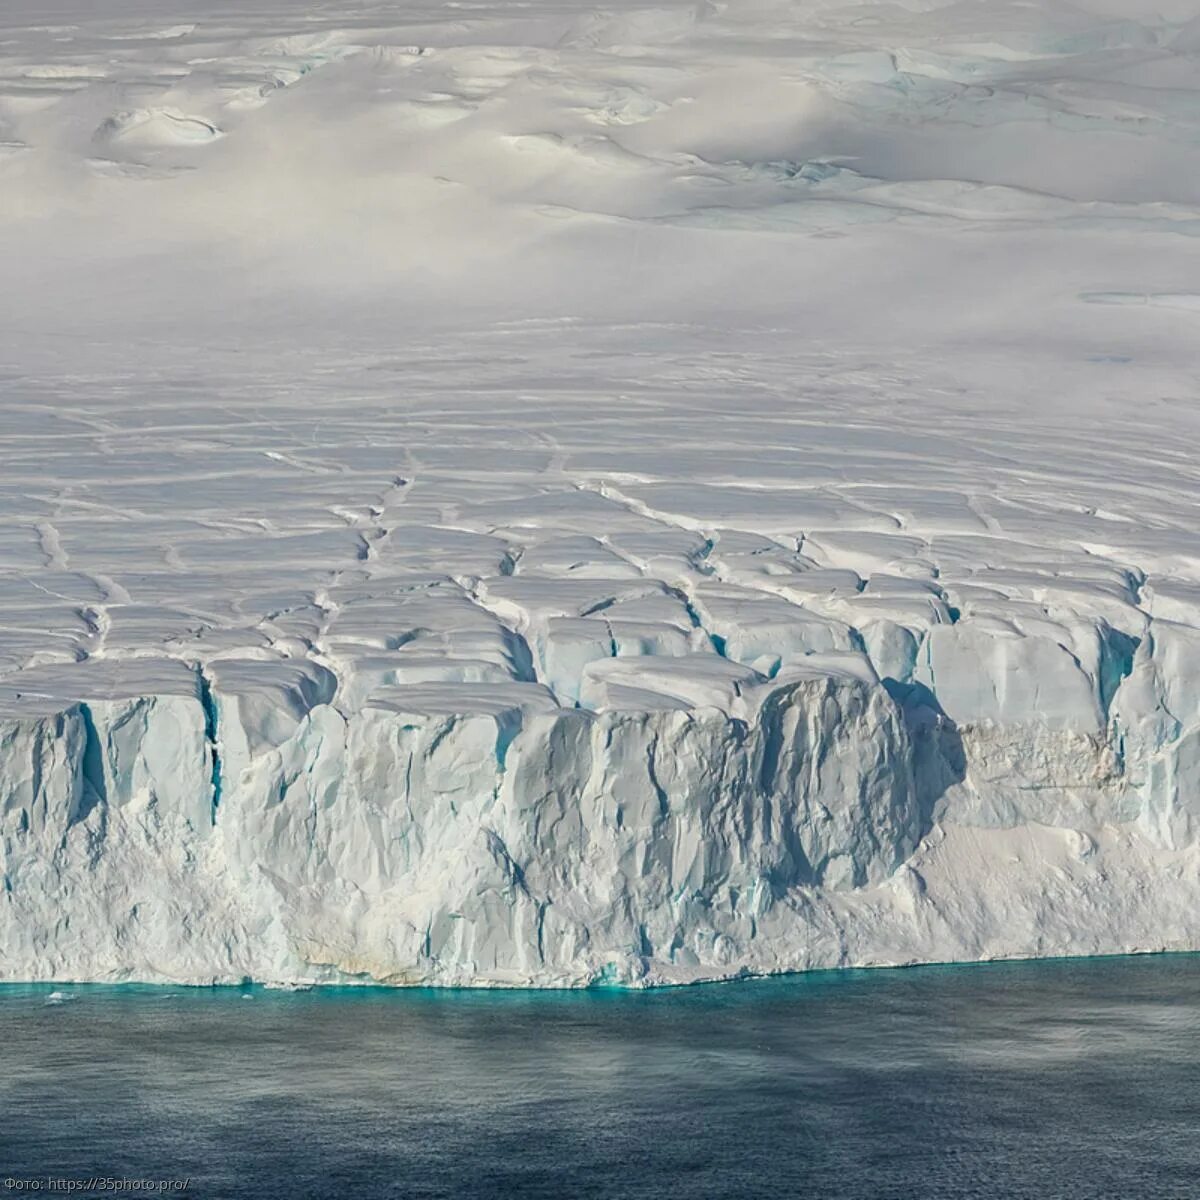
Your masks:
<svg viewBox="0 0 1200 1200"><path fill-rule="evenodd" d="M0 6L6 979L1200 947L1194 4Z"/></svg>

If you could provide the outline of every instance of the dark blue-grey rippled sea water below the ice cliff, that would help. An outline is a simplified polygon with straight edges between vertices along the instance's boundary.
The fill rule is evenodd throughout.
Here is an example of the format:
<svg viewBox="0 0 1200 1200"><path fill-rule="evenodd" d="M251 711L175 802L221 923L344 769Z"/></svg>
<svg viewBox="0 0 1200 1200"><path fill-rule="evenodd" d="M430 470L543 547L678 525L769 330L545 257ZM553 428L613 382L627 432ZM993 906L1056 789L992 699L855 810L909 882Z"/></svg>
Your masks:
<svg viewBox="0 0 1200 1200"><path fill-rule="evenodd" d="M0 989L0 1195L1200 1196L1200 956L649 994L56 990Z"/></svg>

